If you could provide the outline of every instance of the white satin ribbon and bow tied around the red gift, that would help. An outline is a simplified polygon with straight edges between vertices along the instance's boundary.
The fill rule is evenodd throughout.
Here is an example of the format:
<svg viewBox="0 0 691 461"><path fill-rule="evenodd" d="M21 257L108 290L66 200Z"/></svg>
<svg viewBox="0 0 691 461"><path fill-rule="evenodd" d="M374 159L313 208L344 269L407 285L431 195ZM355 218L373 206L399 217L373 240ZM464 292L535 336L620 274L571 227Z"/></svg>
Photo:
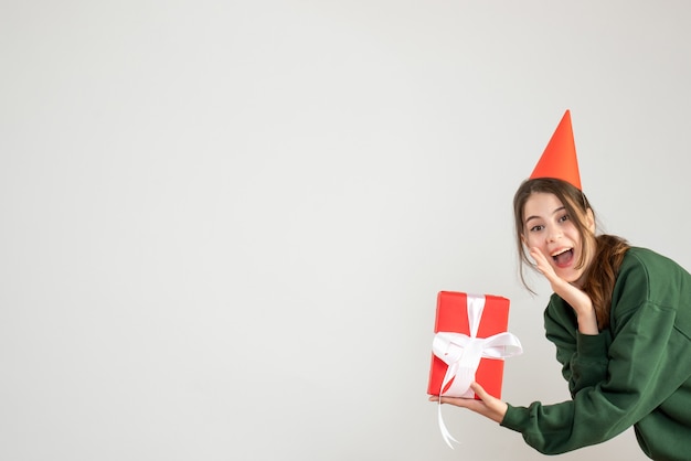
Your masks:
<svg viewBox="0 0 691 461"><path fill-rule="evenodd" d="M456 440L444 424L442 418L442 396L474 398L475 394L470 389L470 384L475 380L475 373L480 365L482 357L508 358L523 352L521 342L513 334L503 332L489 337L477 337L482 310L485 309L485 297L468 294L468 324L470 336L463 333L440 331L434 336L432 350L434 355L448 365L446 375L439 388L438 420L439 430L444 441L453 449L451 440ZM450 382L446 392L446 385Z"/></svg>

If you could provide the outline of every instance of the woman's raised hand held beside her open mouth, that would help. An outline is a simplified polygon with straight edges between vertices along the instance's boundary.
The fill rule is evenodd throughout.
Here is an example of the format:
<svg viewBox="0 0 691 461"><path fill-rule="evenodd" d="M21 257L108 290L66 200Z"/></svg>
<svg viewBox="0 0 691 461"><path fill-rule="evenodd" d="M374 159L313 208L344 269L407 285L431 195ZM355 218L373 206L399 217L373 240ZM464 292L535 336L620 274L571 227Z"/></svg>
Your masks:
<svg viewBox="0 0 691 461"><path fill-rule="evenodd" d="M568 283L554 272L548 258L538 249L530 248L530 256L535 260L538 270L542 274L556 294L574 309L578 319L578 331L583 334L597 334L597 318L593 308L593 300L583 290Z"/></svg>

